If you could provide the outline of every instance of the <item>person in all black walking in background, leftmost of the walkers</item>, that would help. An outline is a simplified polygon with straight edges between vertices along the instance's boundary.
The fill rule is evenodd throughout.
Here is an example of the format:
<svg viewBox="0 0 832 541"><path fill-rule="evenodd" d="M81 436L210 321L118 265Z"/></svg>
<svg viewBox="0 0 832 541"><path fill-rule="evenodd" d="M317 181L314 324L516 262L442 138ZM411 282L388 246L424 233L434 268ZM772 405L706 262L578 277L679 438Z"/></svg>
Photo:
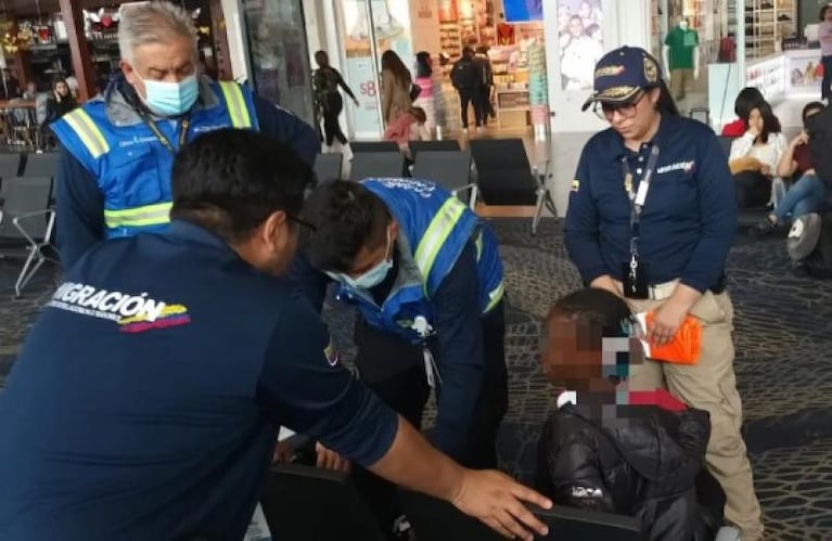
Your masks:
<svg viewBox="0 0 832 541"><path fill-rule="evenodd" d="M330 65L330 56L325 51L315 53L315 62L318 69L312 74L312 90L315 91L316 108L323 116L323 143L327 149L337 139L344 147L344 154L347 159L353 158L353 152L349 149L349 142L344 131L341 129L338 116L344 110L344 100L341 98L338 87L344 89L356 107L359 106L358 98L344 81L341 73Z"/></svg>

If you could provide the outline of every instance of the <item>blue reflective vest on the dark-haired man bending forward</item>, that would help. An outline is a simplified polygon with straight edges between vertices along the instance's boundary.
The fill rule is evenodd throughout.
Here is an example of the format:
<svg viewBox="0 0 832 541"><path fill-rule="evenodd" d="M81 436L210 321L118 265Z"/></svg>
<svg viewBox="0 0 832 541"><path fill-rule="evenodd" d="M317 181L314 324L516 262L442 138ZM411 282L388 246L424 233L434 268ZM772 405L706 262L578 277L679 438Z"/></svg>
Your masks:
<svg viewBox="0 0 832 541"><path fill-rule="evenodd" d="M399 226L399 270L381 307L369 292L340 285L337 297L356 304L374 327L411 343L421 342L412 329L421 315L433 325L431 299L472 239L476 246L479 308L488 313L504 293L502 261L490 228L450 192L433 182L413 179L369 179L362 185L377 195Z"/></svg>

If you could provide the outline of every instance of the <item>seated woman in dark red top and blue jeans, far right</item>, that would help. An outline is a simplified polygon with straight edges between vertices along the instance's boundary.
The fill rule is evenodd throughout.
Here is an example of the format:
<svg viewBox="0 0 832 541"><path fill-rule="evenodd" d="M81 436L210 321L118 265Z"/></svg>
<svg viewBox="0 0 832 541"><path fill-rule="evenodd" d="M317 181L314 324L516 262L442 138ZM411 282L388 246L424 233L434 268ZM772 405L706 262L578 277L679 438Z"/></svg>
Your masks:
<svg viewBox="0 0 832 541"><path fill-rule="evenodd" d="M780 177L795 177L797 182L789 189L773 211L757 224L757 232L767 234L778 226L809 212L820 212L825 207L827 185L815 173L809 155L809 136L806 132L806 120L823 111L821 102L811 102L803 107L803 131L794 138L783 153L777 167Z"/></svg>

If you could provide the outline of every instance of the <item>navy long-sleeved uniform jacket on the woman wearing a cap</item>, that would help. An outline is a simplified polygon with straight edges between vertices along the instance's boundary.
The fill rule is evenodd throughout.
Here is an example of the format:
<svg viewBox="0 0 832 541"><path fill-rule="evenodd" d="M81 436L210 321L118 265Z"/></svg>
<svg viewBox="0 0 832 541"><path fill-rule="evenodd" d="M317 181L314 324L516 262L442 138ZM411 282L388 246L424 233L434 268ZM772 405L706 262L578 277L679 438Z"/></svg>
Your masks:
<svg viewBox="0 0 832 541"><path fill-rule="evenodd" d="M715 287L737 232L734 184L725 152L706 125L663 115L651 143L624 146L612 128L584 147L566 212L566 248L586 283L610 274L622 280L630 258L630 202L620 159L638 189L651 144L656 170L641 215L640 261L650 284L680 279L700 292Z"/></svg>

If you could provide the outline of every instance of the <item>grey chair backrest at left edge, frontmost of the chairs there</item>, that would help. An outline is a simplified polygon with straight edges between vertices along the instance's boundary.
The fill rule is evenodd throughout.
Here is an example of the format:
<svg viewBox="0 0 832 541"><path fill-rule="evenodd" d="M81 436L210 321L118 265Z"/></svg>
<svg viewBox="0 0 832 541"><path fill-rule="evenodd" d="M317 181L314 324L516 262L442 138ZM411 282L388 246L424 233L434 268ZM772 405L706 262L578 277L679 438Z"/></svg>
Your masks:
<svg viewBox="0 0 832 541"><path fill-rule="evenodd" d="M14 227L12 220L18 216L47 210L52 196L51 177L9 177L0 184L0 209L3 211L0 221L0 237L21 239L23 235ZM26 220L26 232L33 239L43 239L47 233L48 217Z"/></svg>

